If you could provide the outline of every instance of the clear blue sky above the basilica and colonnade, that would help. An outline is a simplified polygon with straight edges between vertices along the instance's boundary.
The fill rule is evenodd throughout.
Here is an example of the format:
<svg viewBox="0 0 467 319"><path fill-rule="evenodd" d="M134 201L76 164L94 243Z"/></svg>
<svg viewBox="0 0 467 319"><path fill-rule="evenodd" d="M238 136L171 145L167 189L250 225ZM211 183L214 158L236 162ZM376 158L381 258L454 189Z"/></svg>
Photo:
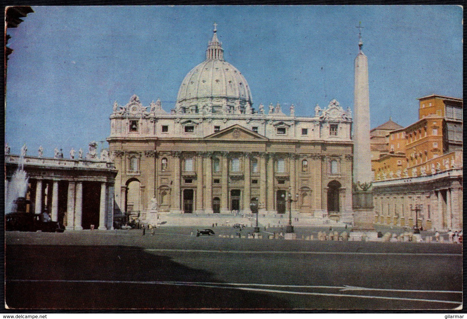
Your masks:
<svg viewBox="0 0 467 319"><path fill-rule="evenodd" d="M462 97L457 6L33 7L8 29L5 139L45 156L109 135L113 101L137 94L174 107L186 73L205 59L212 23L224 58L260 103L314 113L333 98L353 108L358 29L368 56L371 127L417 119L417 97ZM106 146L106 143L105 143Z"/></svg>

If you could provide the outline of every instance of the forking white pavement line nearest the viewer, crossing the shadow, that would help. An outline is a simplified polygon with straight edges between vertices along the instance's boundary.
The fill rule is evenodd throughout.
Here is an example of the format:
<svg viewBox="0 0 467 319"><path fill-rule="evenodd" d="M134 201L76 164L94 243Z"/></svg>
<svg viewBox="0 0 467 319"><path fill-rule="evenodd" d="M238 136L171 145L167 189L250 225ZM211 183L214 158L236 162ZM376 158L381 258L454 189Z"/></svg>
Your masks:
<svg viewBox="0 0 467 319"><path fill-rule="evenodd" d="M297 285L229 284L229 283L205 283L205 282L129 281L129 280L7 279L6 281L13 281L13 282L106 283L106 284L171 284L171 285L177 285L177 286L194 286L194 287L222 288L222 289L234 288L234 289L246 290L246 291L276 292L276 293L287 293L287 294L296 294L296 295L315 295L315 296L329 296L329 297L354 297L354 298L390 299L390 300L438 302L438 303L446 303L446 304L461 304L462 303L460 301L437 300L437 299L419 299L419 298L400 298L400 297L384 297L384 296L348 295L348 294L339 294L339 293L286 291L286 290L276 290L276 289L263 289L263 288L244 287L245 285L257 285L257 286L303 287L303 288L304 287L308 287L308 288L345 288L345 287L334 287L334 286L297 286ZM382 289L380 289L380 290L382 290ZM433 292L433 291L429 291L429 292ZM440 291L440 292L447 292L447 291ZM453 292L459 292L459 291L453 291Z"/></svg>

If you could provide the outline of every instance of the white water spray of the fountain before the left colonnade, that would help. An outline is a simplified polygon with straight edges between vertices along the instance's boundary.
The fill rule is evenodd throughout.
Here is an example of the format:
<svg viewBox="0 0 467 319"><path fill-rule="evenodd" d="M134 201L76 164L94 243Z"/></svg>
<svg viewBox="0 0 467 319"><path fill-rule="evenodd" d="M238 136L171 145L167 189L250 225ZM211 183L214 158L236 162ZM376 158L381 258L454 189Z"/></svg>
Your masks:
<svg viewBox="0 0 467 319"><path fill-rule="evenodd" d="M16 211L15 203L19 197L25 197L28 191L28 175L24 171L24 156L21 154L18 159L18 168L14 172L8 183L7 192L5 192L5 214Z"/></svg>

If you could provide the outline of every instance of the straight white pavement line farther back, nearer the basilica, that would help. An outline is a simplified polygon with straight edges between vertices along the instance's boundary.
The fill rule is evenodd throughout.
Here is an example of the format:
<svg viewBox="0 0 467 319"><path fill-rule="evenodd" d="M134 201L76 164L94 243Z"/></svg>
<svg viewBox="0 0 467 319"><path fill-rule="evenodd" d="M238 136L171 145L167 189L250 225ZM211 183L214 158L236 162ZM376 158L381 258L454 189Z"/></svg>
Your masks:
<svg viewBox="0 0 467 319"><path fill-rule="evenodd" d="M395 255L395 256L462 256L462 254L446 253L391 253L391 252L358 252L358 251L280 251L280 250L202 250L202 249L162 249L148 248L146 251L160 252L202 252L224 254L307 254L307 255Z"/></svg>

